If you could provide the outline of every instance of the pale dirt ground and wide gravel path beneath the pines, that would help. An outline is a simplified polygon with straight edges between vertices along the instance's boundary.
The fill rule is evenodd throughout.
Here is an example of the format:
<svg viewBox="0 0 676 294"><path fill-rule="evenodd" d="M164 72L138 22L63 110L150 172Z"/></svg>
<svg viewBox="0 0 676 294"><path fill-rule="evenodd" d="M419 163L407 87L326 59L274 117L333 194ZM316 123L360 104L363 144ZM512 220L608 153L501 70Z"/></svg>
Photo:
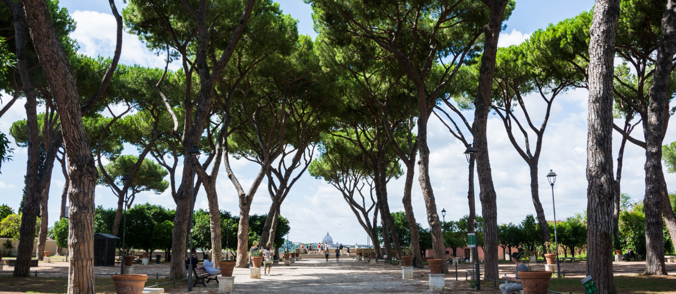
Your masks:
<svg viewBox="0 0 676 294"><path fill-rule="evenodd" d="M544 270L544 264L531 264L533 270ZM566 262L561 264L561 269L566 274L566 278L584 277L585 262ZM616 275L637 275L639 270L644 268L644 262L616 262ZM456 281L456 268L450 266L450 274L445 278L446 291L452 293L476 293L470 289L465 280L465 270L471 268L469 264L460 264L458 266L458 281ZM483 268L483 264L481 265ZM670 274L676 273L676 264L667 264ZM38 268L38 279L10 278L13 267L5 266L0 273L0 293L64 293L66 276L68 272L68 263L53 262L44 264L40 262ZM515 270L514 264L500 263L500 275L512 275ZM107 274L116 274L119 271L118 266L95 267L97 273L97 293L112 290L112 283ZM581 273L576 273L581 272ZM162 274L169 273L169 264L135 264L135 274L148 274L146 286L155 283L166 283L168 281ZM235 268L235 291L237 293L317 293L317 292L338 292L338 293L427 293L429 289L428 276L429 268L414 270L413 279L402 279L402 269L400 266L390 266L386 264L370 265L358 262L354 258L342 258L341 262L335 262L335 259L324 262L319 259L307 259L295 262L291 266L274 266L270 276L261 276L260 279L249 278L249 268ZM55 278L60 277L60 278ZM160 278L159 280L156 278ZM40 283L39 281L42 281ZM671 280L670 280L671 281ZM63 287L60 283L64 283ZM4 285L3 285L4 284ZM212 281L207 284L208 287L199 285L193 290L200 293L218 293L218 285ZM500 291L492 287L493 283L487 281L481 292L498 294ZM172 285L165 286L167 293L185 293L187 284L177 283L176 287ZM113 290L114 291L114 290ZM555 290L556 291L556 290ZM575 292L574 292L575 293ZM633 293L633 292L631 292Z"/></svg>

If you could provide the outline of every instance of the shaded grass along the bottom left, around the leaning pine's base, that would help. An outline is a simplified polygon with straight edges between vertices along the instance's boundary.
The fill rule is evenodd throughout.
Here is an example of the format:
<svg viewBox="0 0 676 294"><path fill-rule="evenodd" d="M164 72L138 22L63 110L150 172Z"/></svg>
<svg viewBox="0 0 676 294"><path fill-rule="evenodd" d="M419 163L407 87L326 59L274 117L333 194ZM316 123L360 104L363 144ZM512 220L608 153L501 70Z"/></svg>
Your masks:
<svg viewBox="0 0 676 294"><path fill-rule="evenodd" d="M149 278L145 286L149 287L155 283L171 282L170 278ZM46 276L31 276L31 277L16 277L16 276L0 276L0 285L2 285L3 293L66 293L68 290L68 278L64 277L46 277ZM96 293L115 293L115 285L112 278L101 277L95 279ZM176 287L185 287L185 281L176 282ZM172 284L160 285L160 288L170 289Z"/></svg>

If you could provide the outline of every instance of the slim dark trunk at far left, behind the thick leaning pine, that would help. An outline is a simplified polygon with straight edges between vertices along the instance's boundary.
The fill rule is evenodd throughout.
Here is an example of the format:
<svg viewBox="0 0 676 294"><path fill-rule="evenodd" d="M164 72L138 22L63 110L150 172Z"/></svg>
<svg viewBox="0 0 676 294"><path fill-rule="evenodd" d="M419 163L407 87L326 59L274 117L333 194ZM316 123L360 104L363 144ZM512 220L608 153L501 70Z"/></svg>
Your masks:
<svg viewBox="0 0 676 294"><path fill-rule="evenodd" d="M7 3L9 5L9 3ZM14 266L14 276L28 276L30 259L33 252L36 218L41 203L42 191L39 189L39 132L37 126L37 101L26 59L26 20L24 4L11 2L9 8L14 13L14 30L16 38L17 68L26 94L26 127L28 129L28 161L26 163L26 200L22 210L21 227L19 229L19 247Z"/></svg>

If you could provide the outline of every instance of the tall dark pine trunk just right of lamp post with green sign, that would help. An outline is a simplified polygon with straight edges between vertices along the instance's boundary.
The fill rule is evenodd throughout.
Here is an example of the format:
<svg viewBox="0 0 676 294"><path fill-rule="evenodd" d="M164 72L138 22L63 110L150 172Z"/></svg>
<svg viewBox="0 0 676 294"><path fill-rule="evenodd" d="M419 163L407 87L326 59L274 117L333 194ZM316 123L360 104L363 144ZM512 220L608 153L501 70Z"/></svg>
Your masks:
<svg viewBox="0 0 676 294"><path fill-rule="evenodd" d="M483 215L483 248L485 277L498 279L498 205L496 189L493 187L491 163L488 156L486 125L491 105L493 73L496 69L498 37L502 29L502 18L506 0L482 0L489 8L489 23L483 27L484 44L479 67L479 88L475 98L475 119L472 127L473 146L477 148L477 176L479 177L479 200Z"/></svg>

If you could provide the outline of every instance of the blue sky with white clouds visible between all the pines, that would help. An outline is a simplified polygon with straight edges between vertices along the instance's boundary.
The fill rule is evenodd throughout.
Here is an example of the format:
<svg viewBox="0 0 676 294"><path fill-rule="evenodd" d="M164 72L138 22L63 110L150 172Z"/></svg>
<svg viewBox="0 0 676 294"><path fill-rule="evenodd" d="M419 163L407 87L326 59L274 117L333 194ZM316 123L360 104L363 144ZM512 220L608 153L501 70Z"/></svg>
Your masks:
<svg viewBox="0 0 676 294"><path fill-rule="evenodd" d="M124 7L121 1L116 1L118 9ZM565 18L577 15L581 11L592 8L594 1L534 1L520 0L507 28L500 36L500 46L508 46L523 42L531 32L538 28L545 28L550 23L556 23ZM73 37L80 44L80 53L90 56L110 56L114 48L114 19L110 14L107 1L62 1L61 5L68 8L71 16L78 22L78 28ZM290 13L299 20L299 33L315 36L312 30L312 10L300 0L280 1L285 13ZM163 67L162 57L155 56L145 49L136 36L124 35L121 63ZM176 65L172 65L176 67ZM3 97L4 98L4 97ZM4 99L3 99L4 100ZM10 111L0 118L0 131L8 134L12 121L25 118L22 107L23 101L17 102ZM536 124L541 121L537 113L541 113L544 103L539 96L527 97L531 113ZM674 103L673 103L674 104ZM673 106L673 105L672 105ZM115 107L114 111L118 111ZM539 111L539 112L538 112ZM107 115L107 113L106 113ZM469 117L472 113L466 113ZM571 90L554 100L552 117L544 137L544 146L539 164L539 193L545 208L546 216L552 219L551 190L545 175L549 169L559 174L555 186L557 218L565 218L575 213L583 212L586 208L585 165L586 165L586 118L587 92L585 90ZM672 119L671 125L676 125ZM498 192L498 220L500 223L519 222L526 214L533 214L531 202L529 170L523 159L514 151L510 144L502 121L497 117L489 118L489 153L493 181ZM635 130L640 134L641 130ZM432 117L429 124L429 147L431 149L431 179L435 192L437 208L448 211L446 218L457 220L467 214L466 198L466 169L467 163L462 152L464 147L458 140L450 136L448 130ZM614 134L614 150L619 148L617 134ZM669 131L665 144L676 140L676 132ZM0 175L0 202L18 208L22 187L23 175L26 171L26 150L17 148L14 161L3 164ZM126 146L124 153L137 154L136 148ZM617 155L617 154L616 154ZM625 152L625 169L623 172L623 192L631 194L639 200L644 194L644 165L645 153L641 148L629 144ZM245 160L232 160L233 169L239 180L248 188L258 172L258 167ZM58 163L55 165L53 181L50 188L49 223L53 223L59 213L59 203L63 176ZM181 167L179 167L180 170ZM223 171L224 169L221 169ZM669 190L676 187L676 175L665 174ZM416 175L417 179L417 175ZM252 214L264 214L268 211L270 198L261 186L254 197ZM404 179L393 180L388 186L389 205L391 210L403 210L401 198ZM478 180L475 183L478 190ZM235 189L223 173L218 177L217 185L220 209L237 213L237 198ZM420 186L414 181L412 202L418 223L428 227L426 221L425 204ZM116 198L107 187L99 186L96 191L95 202L106 208L116 206ZM155 195L144 193L137 196L135 203L150 202L168 208L175 205L168 192ZM477 203L479 203L477 199ZM478 204L477 204L478 205ZM201 192L197 198L196 208L207 208L206 196ZM480 206L477 207L480 210ZM324 181L314 179L310 175L303 175L291 190L291 194L281 207L281 213L291 221L290 239L293 241L317 242L326 235L327 231L333 240L341 243L366 243L366 233L358 225L354 214L341 198L335 188Z"/></svg>

